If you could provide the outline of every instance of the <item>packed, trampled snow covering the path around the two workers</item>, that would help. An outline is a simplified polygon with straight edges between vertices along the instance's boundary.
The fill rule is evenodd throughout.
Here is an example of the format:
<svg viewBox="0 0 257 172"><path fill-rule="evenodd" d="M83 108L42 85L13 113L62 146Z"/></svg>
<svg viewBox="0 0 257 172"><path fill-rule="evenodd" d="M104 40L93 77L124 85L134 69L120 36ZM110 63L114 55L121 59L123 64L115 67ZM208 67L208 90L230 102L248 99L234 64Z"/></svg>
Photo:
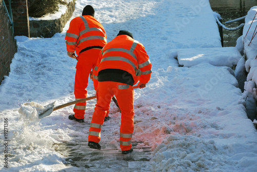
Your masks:
<svg viewBox="0 0 257 172"><path fill-rule="evenodd" d="M242 49L237 48L243 48L246 40L242 37L237 48L222 48L209 1L77 0L71 19L81 15L88 4L95 8L107 41L119 30L128 30L149 54L153 73L146 88L135 90L132 142L152 147L152 171L256 171L256 129L247 118L245 95L231 69L242 61ZM253 7L249 12L244 34L256 11ZM48 39L15 37L18 51L9 76L0 85L1 171L80 170L68 165L57 151L61 143L75 137L87 142L89 128L80 128L67 118L73 106L36 118L45 105L75 100L76 60L67 56L64 40L69 22L62 33ZM248 34L253 32L250 29ZM256 42L255 38L247 53L256 54ZM256 81L253 63L246 65L252 73L248 82ZM88 96L95 95L91 81L87 90ZM95 103L87 102L88 123ZM112 119L104 123L113 126L108 132L114 137L102 137L101 145L119 146L120 113L115 109L112 103Z"/></svg>

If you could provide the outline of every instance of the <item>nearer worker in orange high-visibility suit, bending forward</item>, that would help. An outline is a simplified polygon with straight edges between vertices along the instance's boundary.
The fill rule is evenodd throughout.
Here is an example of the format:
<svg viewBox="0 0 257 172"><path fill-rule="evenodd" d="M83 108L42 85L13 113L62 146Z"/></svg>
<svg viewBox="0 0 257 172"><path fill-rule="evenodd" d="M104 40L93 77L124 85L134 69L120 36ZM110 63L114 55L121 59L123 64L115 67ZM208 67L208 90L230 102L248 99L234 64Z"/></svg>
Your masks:
<svg viewBox="0 0 257 172"><path fill-rule="evenodd" d="M115 95L121 111L120 148L122 154L133 151L131 139L134 131L134 89L144 88L149 82L152 64L144 46L133 39L132 33L121 30L111 42L101 50L94 80L98 80L97 104L91 120L88 146L101 149L100 132L104 117Z"/></svg>

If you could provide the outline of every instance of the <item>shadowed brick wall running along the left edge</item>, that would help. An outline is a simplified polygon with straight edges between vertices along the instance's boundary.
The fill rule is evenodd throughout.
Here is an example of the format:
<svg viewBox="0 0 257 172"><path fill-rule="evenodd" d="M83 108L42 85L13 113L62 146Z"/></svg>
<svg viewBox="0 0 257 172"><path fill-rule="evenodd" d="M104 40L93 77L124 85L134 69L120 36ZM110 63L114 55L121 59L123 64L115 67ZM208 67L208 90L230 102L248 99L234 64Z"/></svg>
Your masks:
<svg viewBox="0 0 257 172"><path fill-rule="evenodd" d="M4 75L10 72L10 64L15 52L17 52L16 40L3 0L0 0L0 83Z"/></svg>

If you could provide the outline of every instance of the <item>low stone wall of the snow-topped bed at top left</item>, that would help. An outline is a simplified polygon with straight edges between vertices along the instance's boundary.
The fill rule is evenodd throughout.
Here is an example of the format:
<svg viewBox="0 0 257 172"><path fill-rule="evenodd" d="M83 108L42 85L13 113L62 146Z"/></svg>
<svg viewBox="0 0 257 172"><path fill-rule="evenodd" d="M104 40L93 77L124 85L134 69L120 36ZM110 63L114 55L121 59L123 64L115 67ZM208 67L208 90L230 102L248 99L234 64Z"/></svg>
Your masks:
<svg viewBox="0 0 257 172"><path fill-rule="evenodd" d="M55 33L63 31L63 27L72 16L75 10L75 0L68 4L65 14L56 20L32 20L29 21L30 36L31 37L52 37Z"/></svg>

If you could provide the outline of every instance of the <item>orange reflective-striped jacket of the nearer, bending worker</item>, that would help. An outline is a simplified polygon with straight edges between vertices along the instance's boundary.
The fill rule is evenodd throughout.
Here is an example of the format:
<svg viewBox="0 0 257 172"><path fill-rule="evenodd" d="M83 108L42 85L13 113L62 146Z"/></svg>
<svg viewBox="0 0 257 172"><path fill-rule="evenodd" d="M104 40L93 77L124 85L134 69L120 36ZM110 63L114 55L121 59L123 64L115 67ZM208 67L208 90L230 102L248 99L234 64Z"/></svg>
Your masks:
<svg viewBox="0 0 257 172"><path fill-rule="evenodd" d="M121 69L132 74L134 85L140 81L148 83L151 78L152 64L144 46L127 35L116 36L101 50L93 78L103 69Z"/></svg>

